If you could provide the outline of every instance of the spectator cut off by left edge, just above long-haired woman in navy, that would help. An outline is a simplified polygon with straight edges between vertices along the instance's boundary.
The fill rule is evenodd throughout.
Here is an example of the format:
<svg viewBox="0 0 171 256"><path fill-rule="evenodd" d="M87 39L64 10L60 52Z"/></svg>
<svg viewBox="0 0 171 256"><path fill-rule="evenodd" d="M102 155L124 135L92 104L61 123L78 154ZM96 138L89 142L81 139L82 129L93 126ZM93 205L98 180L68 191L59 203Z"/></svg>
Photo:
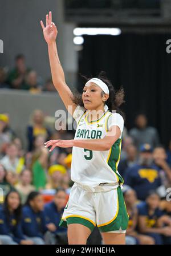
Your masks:
<svg viewBox="0 0 171 256"><path fill-rule="evenodd" d="M3 190L3 196L13 190L13 186L6 180L6 170L2 164L0 164L0 188ZM1 203L1 202L0 202Z"/></svg>

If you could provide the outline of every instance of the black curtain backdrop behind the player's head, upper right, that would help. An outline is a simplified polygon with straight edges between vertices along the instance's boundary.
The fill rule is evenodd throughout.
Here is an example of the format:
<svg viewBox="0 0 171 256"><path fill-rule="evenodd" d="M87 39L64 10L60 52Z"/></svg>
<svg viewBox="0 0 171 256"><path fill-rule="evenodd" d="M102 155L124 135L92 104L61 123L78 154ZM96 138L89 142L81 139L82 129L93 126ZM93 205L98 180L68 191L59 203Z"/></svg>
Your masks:
<svg viewBox="0 0 171 256"><path fill-rule="evenodd" d="M160 133L161 143L171 137L171 54L166 40L171 34L121 34L84 36L79 72L95 76L104 70L113 86L125 89L127 128L133 127L137 112L143 111ZM79 80L79 90L83 80Z"/></svg>

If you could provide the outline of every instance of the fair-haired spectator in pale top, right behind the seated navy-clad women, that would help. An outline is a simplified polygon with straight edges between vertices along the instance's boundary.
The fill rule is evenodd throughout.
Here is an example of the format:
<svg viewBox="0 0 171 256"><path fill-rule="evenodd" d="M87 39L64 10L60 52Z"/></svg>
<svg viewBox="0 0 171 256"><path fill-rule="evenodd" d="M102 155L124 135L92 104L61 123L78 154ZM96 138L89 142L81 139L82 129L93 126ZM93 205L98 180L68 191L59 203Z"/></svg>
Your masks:
<svg viewBox="0 0 171 256"><path fill-rule="evenodd" d="M35 187L31 185L32 172L29 169L22 170L19 175L19 182L15 185L15 189L18 190L21 195L22 204L25 204L28 194L35 190Z"/></svg>

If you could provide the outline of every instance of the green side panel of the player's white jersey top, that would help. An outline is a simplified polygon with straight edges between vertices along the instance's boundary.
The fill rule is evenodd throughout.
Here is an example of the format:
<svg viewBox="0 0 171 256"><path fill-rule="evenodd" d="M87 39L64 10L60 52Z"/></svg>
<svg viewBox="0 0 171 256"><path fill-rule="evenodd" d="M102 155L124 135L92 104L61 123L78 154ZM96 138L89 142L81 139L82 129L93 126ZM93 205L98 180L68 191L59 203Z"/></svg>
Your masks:
<svg viewBox="0 0 171 256"><path fill-rule="evenodd" d="M120 159L120 151L121 151L121 140L122 139L117 139L115 141L115 143L112 145L111 147L111 151L110 151L110 155L109 155L109 159L107 161L108 165L111 167L111 169L113 170L113 172L116 173L117 177L119 178L119 181L121 182L121 184L124 183L124 179L123 177L121 177L121 175L117 172L117 162Z"/></svg>

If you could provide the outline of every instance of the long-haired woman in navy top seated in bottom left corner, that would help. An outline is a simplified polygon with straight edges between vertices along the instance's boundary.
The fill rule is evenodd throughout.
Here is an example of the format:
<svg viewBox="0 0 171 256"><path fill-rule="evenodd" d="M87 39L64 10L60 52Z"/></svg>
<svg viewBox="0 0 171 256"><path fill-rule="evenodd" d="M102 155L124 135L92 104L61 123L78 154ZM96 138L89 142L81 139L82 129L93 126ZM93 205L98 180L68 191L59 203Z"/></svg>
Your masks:
<svg viewBox="0 0 171 256"><path fill-rule="evenodd" d="M22 206L17 191L11 191L0 208L0 241L3 245L32 245L31 239L26 239L21 228Z"/></svg>

